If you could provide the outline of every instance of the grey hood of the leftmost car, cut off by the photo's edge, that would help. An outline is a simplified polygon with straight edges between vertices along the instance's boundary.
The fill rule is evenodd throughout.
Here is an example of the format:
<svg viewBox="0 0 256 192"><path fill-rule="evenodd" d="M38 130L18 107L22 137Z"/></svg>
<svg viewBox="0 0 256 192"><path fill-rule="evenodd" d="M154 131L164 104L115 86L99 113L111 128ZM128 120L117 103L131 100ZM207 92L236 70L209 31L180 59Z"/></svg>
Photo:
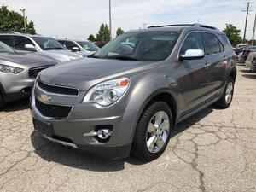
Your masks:
<svg viewBox="0 0 256 192"><path fill-rule="evenodd" d="M0 62L1 61L8 61L15 64L30 66L34 64L40 65L55 65L58 62L50 59L48 57L44 57L41 55L36 54L29 54L29 53L0 53Z"/></svg>

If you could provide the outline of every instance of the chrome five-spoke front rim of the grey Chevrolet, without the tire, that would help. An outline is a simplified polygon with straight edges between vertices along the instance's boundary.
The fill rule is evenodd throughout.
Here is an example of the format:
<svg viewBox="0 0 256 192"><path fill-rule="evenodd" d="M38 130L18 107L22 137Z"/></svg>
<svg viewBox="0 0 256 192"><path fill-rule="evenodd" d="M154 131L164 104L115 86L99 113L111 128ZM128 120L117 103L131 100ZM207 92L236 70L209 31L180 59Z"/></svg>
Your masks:
<svg viewBox="0 0 256 192"><path fill-rule="evenodd" d="M170 131L170 119L164 111L153 115L148 124L147 147L151 153L157 153L164 147Z"/></svg>

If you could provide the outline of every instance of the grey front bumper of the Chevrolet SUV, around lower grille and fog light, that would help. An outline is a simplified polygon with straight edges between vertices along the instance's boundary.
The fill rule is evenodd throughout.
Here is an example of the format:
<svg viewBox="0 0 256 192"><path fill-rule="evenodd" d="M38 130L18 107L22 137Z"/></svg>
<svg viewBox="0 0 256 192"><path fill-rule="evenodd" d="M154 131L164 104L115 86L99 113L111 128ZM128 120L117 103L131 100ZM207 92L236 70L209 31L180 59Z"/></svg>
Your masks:
<svg viewBox="0 0 256 192"><path fill-rule="evenodd" d="M36 97L39 94L38 91L42 90L32 91L35 92ZM106 108L96 103L81 103L84 95L85 92L80 92L77 98L68 97L66 101L64 96L51 96L53 102L59 102L59 105L61 105L61 102L62 104L65 102L73 103L73 108L65 119L44 117L38 111L35 104L35 96L32 95L32 118L50 125L52 134L38 131L50 141L78 148L103 158L124 159L128 157L138 111L125 111L124 106L118 104L121 101ZM72 102L72 99L76 102ZM112 134L107 142L102 142L96 137L86 135L96 131L99 126L112 127ZM35 129L37 130L36 127Z"/></svg>

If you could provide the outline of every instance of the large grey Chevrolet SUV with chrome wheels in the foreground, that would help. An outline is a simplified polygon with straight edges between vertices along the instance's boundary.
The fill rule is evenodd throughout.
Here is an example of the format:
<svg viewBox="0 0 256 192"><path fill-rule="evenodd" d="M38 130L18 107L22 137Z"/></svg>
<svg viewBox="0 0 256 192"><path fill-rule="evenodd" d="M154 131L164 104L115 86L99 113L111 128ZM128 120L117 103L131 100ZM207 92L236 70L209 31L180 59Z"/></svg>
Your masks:
<svg viewBox="0 0 256 192"><path fill-rule="evenodd" d="M119 49L126 42L135 44L132 51ZM200 24L125 32L71 62L38 75L34 128L50 141L112 159L156 159L174 125L212 104L228 108L236 80L228 38Z"/></svg>

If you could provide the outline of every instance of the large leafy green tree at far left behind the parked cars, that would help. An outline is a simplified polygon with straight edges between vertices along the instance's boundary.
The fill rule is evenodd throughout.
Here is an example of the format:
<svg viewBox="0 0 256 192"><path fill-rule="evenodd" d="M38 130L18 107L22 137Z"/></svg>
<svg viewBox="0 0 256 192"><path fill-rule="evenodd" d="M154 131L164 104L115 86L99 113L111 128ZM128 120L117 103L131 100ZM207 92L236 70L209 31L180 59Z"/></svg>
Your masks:
<svg viewBox="0 0 256 192"><path fill-rule="evenodd" d="M23 16L18 12L9 10L7 6L0 7L0 31L3 32L25 32ZM35 34L34 23L30 21L27 23L26 18L26 32Z"/></svg>

